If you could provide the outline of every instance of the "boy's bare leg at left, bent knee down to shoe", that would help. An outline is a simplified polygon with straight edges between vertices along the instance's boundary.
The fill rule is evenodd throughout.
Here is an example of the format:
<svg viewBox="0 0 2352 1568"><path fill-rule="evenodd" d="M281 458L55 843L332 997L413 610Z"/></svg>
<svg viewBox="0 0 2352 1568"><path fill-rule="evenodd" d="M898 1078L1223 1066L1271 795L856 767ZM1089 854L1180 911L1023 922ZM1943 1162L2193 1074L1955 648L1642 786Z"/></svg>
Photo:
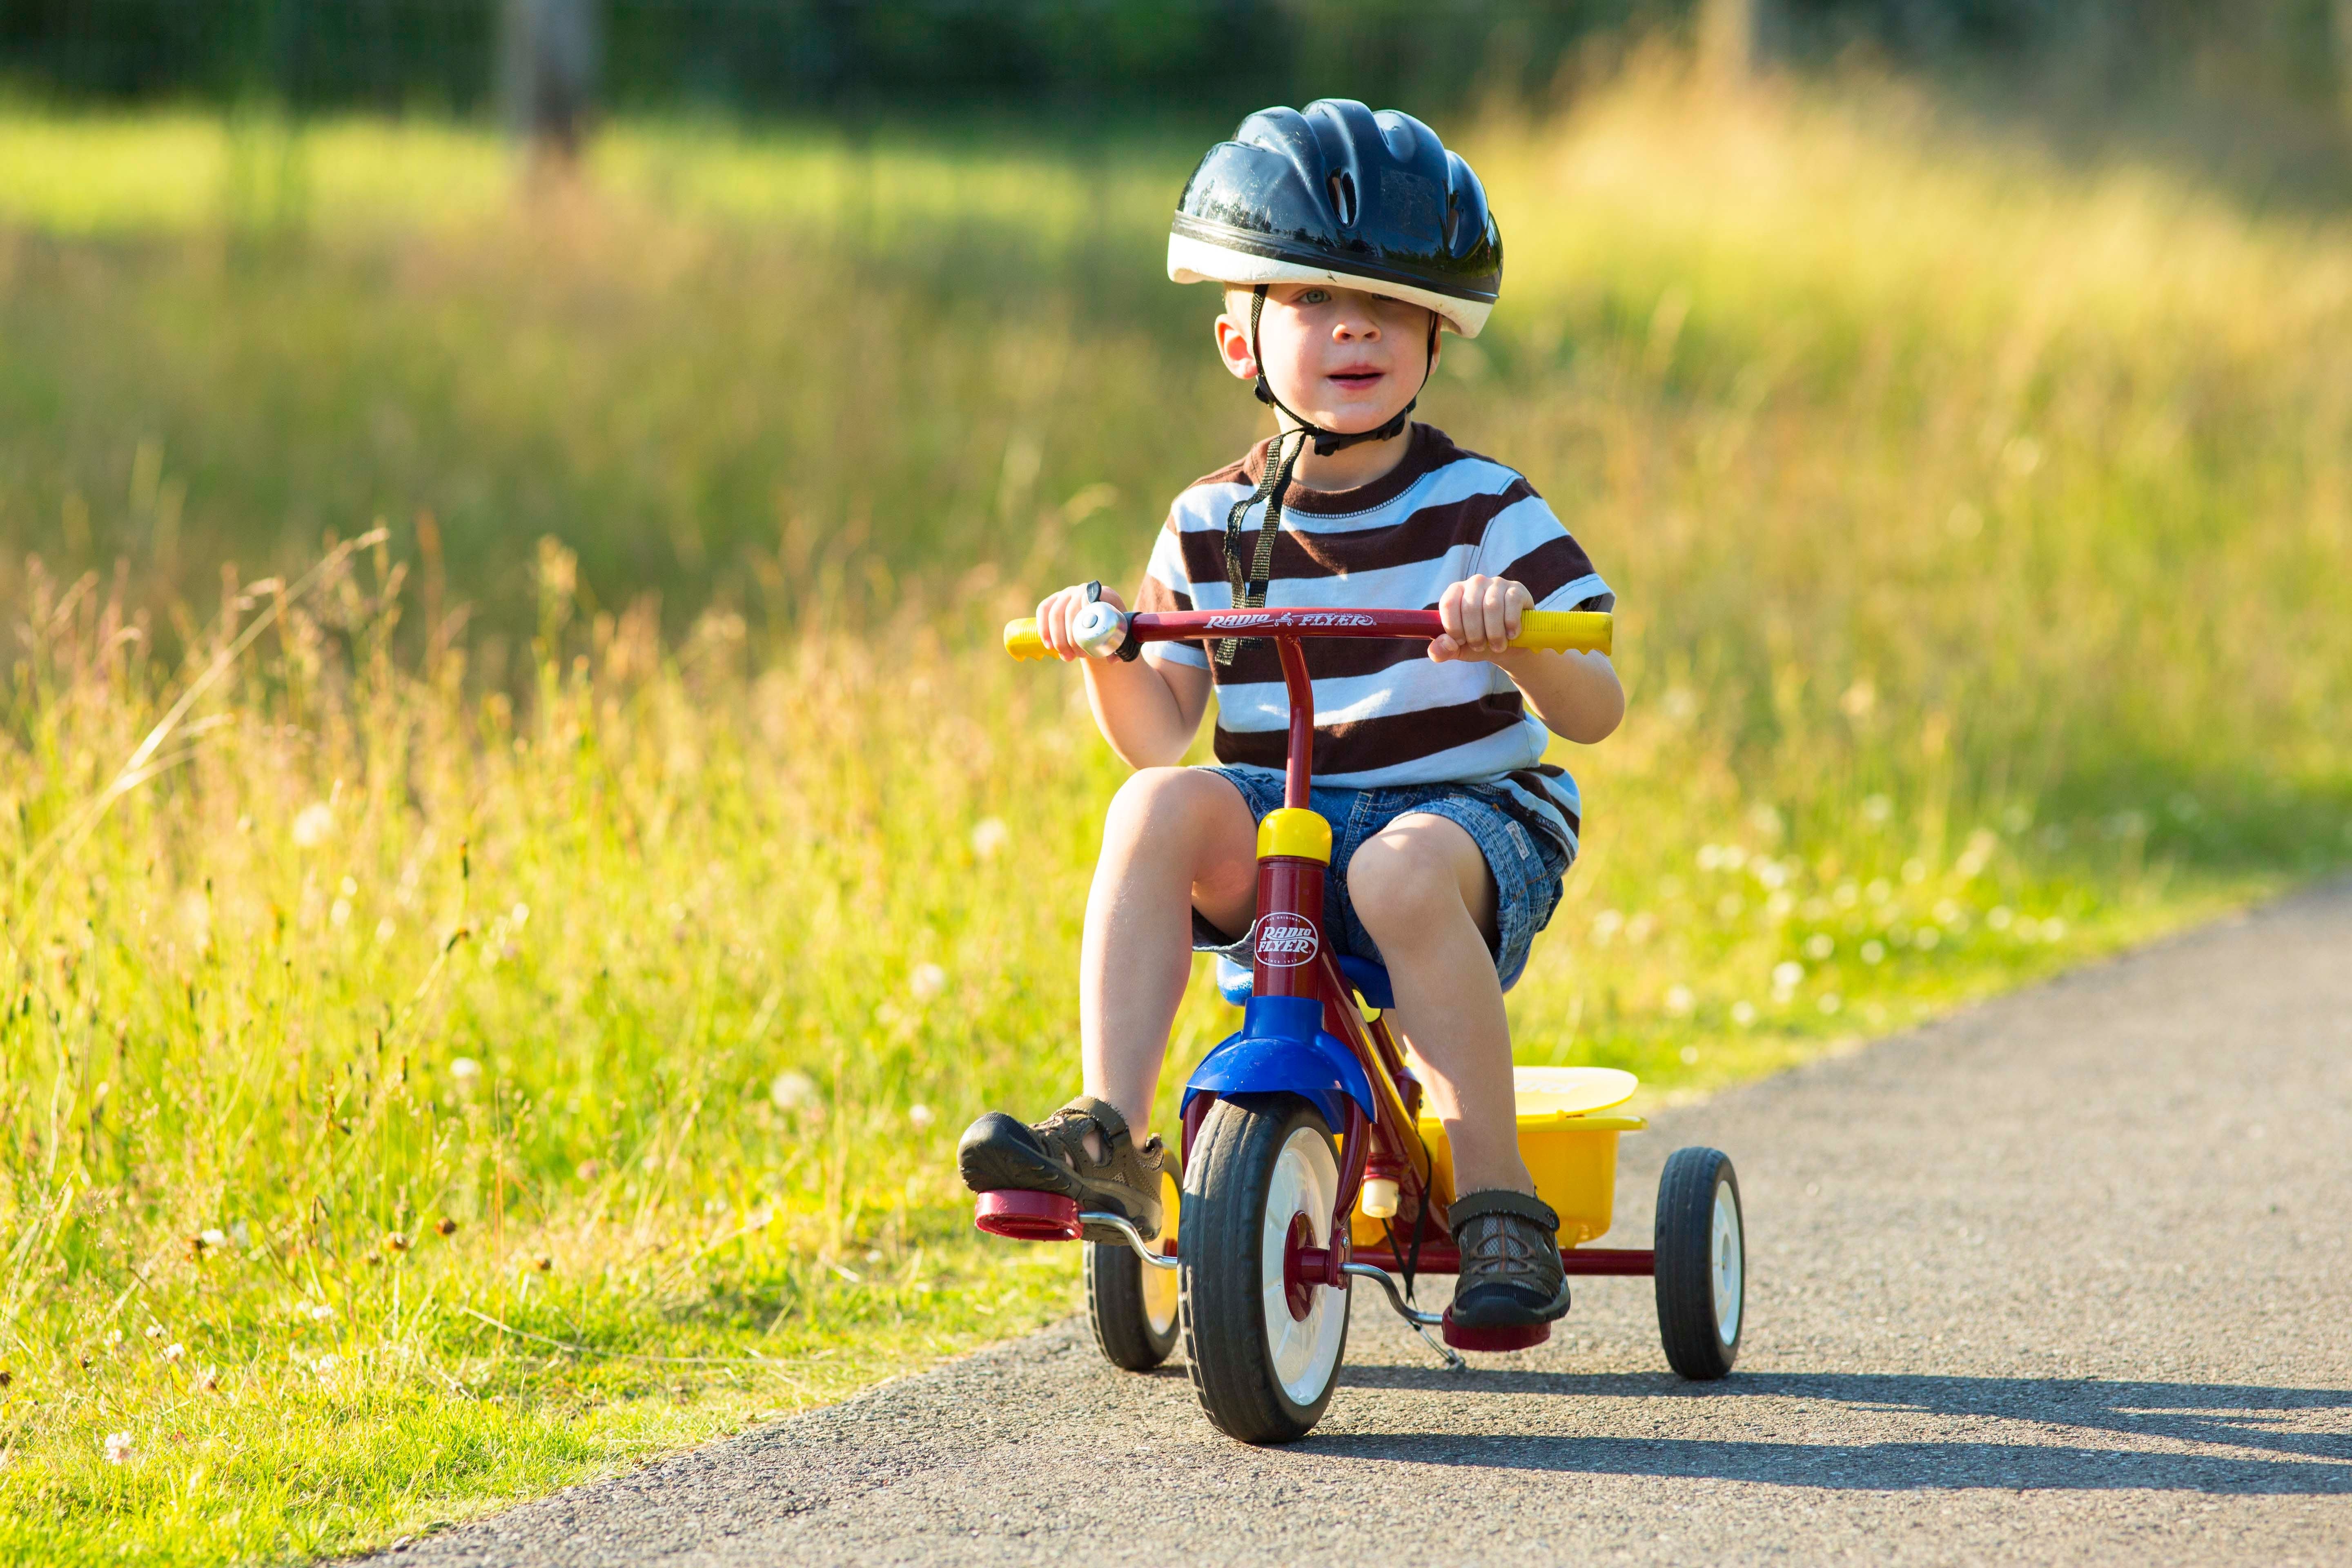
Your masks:
<svg viewBox="0 0 2352 1568"><path fill-rule="evenodd" d="M1150 1138L1160 1058L1192 978L1192 910L1221 931L1247 931L1258 903L1256 846L1242 792L1202 769L1143 769L1110 802L1087 896L1077 1030L1087 1093L1127 1117L1138 1147Z"/></svg>

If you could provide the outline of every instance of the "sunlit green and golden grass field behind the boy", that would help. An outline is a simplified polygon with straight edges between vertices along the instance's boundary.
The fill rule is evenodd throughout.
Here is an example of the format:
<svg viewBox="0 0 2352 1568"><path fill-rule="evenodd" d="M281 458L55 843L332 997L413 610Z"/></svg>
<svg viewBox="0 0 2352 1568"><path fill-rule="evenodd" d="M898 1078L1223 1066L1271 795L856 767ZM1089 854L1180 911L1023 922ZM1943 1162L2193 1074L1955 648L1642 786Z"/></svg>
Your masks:
<svg viewBox="0 0 2352 1568"><path fill-rule="evenodd" d="M993 628L1256 433L1195 153L621 125L517 202L0 113L0 1556L381 1544L1073 1305L950 1150L1075 1084L1120 771ZM2352 858L2352 223L1886 87L1470 153L1423 407L1632 693L1522 1060L1705 1091Z"/></svg>

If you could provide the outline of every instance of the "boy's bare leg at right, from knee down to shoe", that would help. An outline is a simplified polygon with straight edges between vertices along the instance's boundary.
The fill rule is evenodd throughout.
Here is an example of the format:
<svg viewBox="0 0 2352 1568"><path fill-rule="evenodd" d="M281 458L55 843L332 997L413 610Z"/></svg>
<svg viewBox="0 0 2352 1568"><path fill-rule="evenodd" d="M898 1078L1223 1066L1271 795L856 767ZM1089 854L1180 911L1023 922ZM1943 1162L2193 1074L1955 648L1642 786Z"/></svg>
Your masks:
<svg viewBox="0 0 2352 1568"><path fill-rule="evenodd" d="M1496 919L1486 856L1461 823L1409 811L1355 851L1348 898L1388 961L1404 1034L1432 1070L1454 1190L1534 1192L1519 1159L1503 985L1486 945Z"/></svg>

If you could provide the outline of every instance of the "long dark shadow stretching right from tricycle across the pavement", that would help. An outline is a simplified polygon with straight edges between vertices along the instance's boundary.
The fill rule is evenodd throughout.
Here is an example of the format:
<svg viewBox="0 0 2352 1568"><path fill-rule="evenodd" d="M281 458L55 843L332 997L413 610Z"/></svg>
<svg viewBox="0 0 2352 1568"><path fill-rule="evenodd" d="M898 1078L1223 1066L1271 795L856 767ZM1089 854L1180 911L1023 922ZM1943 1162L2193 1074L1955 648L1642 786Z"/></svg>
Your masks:
<svg viewBox="0 0 2352 1568"><path fill-rule="evenodd" d="M1867 1373L1748 1373L1684 1382L1668 1373L1498 1373L1357 1366L1341 1382L1371 1389L1555 1394L1583 1401L1689 1399L1722 1406L1710 1418L1762 1425L1755 1439L1489 1436L1472 1432L1329 1434L1317 1455L1392 1458L1425 1465L1548 1469L1625 1476L1712 1476L1839 1490L2190 1490L2352 1497L2352 1389L2209 1382L2107 1382L2077 1378L1922 1378ZM1743 1410L1750 1401L1776 1401ZM1790 1401L1804 1401L1792 1408ZM2086 1427L2131 1439L2239 1448L2244 1455L2079 1443L1950 1441L1837 1443L1842 1415L1929 1415ZM2314 1422L2317 1415L2317 1422ZM1479 1420L1465 1410L1468 1420ZM2314 1432L2326 1422L2340 1427ZM1769 1441L1773 1427L1804 1427ZM1486 1427L1491 1432L1491 1427Z"/></svg>

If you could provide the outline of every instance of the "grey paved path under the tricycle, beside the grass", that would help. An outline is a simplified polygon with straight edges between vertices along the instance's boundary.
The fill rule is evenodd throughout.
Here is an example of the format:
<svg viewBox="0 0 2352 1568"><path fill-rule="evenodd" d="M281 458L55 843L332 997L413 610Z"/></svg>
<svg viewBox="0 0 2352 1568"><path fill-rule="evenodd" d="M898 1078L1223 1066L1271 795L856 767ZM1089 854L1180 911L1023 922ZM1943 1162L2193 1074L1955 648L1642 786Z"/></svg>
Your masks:
<svg viewBox="0 0 2352 1568"><path fill-rule="evenodd" d="M2352 1563L2352 889L1625 1140L1712 1143L1745 1359L1644 1281L1437 1368L1357 1302L1317 1434L1221 1439L1084 1326L416 1542L414 1563Z"/></svg>

